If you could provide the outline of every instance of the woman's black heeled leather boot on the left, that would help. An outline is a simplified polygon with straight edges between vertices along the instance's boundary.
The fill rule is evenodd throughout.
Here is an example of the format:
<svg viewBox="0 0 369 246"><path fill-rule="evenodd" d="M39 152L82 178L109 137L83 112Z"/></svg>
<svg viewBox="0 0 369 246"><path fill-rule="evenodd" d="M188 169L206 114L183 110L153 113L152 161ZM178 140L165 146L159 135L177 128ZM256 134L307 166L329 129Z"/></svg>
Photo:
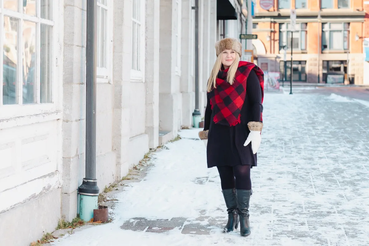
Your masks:
<svg viewBox="0 0 369 246"><path fill-rule="evenodd" d="M237 214L237 201L234 189L222 190L225 206L227 206L228 222L223 228L223 232L231 232L238 228L239 218Z"/></svg>

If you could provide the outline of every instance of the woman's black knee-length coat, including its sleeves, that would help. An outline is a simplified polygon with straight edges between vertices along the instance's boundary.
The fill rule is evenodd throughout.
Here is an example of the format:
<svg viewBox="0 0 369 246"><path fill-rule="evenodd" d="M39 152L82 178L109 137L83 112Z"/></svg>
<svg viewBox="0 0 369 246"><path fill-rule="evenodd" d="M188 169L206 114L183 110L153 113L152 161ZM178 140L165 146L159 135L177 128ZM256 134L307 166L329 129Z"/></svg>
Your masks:
<svg viewBox="0 0 369 246"><path fill-rule="evenodd" d="M207 166L256 166L257 157L252 153L251 143L244 146L250 131L247 123L260 121L262 112L262 95L258 77L252 70L246 80L246 98L241 110L241 123L234 127L215 124L211 110L209 93L205 110L204 130L208 132Z"/></svg>

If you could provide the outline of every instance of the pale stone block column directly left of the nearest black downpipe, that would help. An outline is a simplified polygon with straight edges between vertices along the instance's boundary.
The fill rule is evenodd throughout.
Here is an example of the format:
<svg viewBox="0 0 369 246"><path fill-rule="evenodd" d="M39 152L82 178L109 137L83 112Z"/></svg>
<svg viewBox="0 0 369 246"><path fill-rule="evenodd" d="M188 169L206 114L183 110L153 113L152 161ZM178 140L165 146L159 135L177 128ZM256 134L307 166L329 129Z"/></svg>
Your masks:
<svg viewBox="0 0 369 246"><path fill-rule="evenodd" d="M85 177L86 3L64 4L62 215L77 215L77 188Z"/></svg>

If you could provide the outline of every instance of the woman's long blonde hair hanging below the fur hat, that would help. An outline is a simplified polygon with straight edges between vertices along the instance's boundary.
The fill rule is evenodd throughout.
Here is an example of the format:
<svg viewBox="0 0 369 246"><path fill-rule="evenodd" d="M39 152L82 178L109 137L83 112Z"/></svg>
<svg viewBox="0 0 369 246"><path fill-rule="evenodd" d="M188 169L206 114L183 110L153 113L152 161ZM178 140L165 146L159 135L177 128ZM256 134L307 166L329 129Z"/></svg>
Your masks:
<svg viewBox="0 0 369 246"><path fill-rule="evenodd" d="M239 55L236 55L236 59L234 60L230 68L228 69L227 82L230 84L233 84L234 82L234 77L236 76L236 71L237 71L238 63L240 59L241 58L239 57ZM221 66L222 66L222 53L218 55L217 60L215 61L215 64L213 66L213 70L211 70L210 77L208 79L208 84L207 84L207 92L210 92L214 88L217 88L216 80L217 80L218 72L221 69Z"/></svg>

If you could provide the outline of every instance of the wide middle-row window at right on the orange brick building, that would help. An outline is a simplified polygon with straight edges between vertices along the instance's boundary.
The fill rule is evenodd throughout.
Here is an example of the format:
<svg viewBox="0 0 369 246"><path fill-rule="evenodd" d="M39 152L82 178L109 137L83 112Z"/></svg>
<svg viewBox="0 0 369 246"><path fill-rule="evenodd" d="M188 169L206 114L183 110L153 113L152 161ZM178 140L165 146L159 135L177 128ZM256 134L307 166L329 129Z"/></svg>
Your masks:
<svg viewBox="0 0 369 246"><path fill-rule="evenodd" d="M322 50L348 50L350 23L322 23Z"/></svg>

